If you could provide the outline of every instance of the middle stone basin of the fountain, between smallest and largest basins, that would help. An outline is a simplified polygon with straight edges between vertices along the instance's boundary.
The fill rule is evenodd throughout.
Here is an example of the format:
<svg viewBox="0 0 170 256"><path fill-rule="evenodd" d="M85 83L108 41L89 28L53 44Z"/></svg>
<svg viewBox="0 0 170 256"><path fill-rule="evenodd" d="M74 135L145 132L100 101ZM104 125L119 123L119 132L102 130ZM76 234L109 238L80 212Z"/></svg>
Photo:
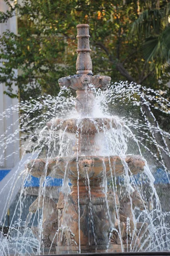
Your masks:
<svg viewBox="0 0 170 256"><path fill-rule="evenodd" d="M48 128L65 130L70 133L95 134L122 125L117 118L54 119L47 122Z"/></svg>

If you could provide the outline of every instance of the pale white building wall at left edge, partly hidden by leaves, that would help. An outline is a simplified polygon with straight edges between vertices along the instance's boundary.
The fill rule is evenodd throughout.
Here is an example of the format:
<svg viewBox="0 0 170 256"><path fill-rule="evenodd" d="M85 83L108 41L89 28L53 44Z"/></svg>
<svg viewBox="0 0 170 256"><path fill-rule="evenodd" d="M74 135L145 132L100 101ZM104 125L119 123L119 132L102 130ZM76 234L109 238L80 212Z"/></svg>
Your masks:
<svg viewBox="0 0 170 256"><path fill-rule="evenodd" d="M10 2L10 1L9 1ZM11 5L13 5L14 2L11 2ZM0 0L0 11L6 12L8 10L8 6L3 0ZM17 33L17 16L14 16L8 20L7 23L0 23L0 35L3 34L6 29L9 29L10 31ZM17 76L17 70L14 70L15 75ZM17 87L13 84L12 88L14 92L16 92ZM6 90L5 84L0 84L0 114L5 111L10 106L14 106L18 104L18 99L12 99L6 94L3 94L3 91ZM6 136L10 136L10 134L13 134L14 131L17 129L19 125L19 121L17 119L19 118L19 115L17 112L12 113L10 118L3 118L0 120L0 136L4 134L7 128L8 129ZM16 122L15 125L12 125ZM4 143L6 143L6 140L3 140ZM13 152L16 152L16 154L13 154ZM3 147L0 147L0 157L3 155L2 159L0 160L0 169L11 169L14 167L15 163L19 161L20 154L19 154L19 133L15 136L15 142L14 143L6 143ZM6 159L7 158L7 159Z"/></svg>

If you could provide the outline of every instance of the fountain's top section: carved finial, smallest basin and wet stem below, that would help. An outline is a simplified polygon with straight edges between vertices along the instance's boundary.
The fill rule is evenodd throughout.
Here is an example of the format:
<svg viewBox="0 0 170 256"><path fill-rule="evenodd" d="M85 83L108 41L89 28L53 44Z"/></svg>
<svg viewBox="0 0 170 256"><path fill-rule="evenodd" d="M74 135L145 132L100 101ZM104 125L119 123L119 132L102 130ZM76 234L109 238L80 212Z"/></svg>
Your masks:
<svg viewBox="0 0 170 256"><path fill-rule="evenodd" d="M58 83L60 87L69 87L73 90L76 90L76 93L78 95L77 102L78 103L78 112L83 113L84 111L90 112L90 110L93 109L92 102L94 102L93 99L93 92L92 90L88 91L88 103L84 102L84 96L86 95L85 90L89 87L90 84L93 84L95 88L101 87L101 88L107 88L110 84L111 77L109 76L100 76L95 75L93 76L92 73L92 60L90 57L90 46L89 46L89 25L88 24L78 24L77 25L78 30L78 57L76 61L76 70L78 75L74 76L65 76L58 79ZM89 76L91 75L91 76ZM84 92L83 92L84 91ZM81 96L80 96L81 95ZM80 99L80 97L82 99ZM85 96L86 97L86 96ZM91 100L89 100L91 98ZM91 102L91 103L89 103ZM85 106L85 105L86 106ZM81 108L80 108L81 105ZM89 105L89 108L87 108L87 105Z"/></svg>

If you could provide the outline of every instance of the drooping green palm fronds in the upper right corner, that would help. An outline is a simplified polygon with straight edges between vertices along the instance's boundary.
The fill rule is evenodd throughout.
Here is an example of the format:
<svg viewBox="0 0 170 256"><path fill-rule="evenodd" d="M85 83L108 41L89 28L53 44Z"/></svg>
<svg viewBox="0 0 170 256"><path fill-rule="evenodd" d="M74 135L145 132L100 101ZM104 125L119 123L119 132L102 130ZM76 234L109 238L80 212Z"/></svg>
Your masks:
<svg viewBox="0 0 170 256"><path fill-rule="evenodd" d="M141 40L144 59L151 62L158 79L170 59L170 3L150 1L149 7L133 23L131 34Z"/></svg>

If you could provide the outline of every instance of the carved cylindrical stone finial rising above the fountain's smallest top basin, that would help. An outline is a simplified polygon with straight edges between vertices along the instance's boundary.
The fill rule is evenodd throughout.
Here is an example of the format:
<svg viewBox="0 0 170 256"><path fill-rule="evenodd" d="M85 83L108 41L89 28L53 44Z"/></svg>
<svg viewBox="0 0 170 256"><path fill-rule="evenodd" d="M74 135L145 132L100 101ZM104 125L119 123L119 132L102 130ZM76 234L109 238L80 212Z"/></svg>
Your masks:
<svg viewBox="0 0 170 256"><path fill-rule="evenodd" d="M90 57L90 46L89 46L89 25L78 24L78 49L77 49L77 61L76 70L77 74L92 74L92 60Z"/></svg>

